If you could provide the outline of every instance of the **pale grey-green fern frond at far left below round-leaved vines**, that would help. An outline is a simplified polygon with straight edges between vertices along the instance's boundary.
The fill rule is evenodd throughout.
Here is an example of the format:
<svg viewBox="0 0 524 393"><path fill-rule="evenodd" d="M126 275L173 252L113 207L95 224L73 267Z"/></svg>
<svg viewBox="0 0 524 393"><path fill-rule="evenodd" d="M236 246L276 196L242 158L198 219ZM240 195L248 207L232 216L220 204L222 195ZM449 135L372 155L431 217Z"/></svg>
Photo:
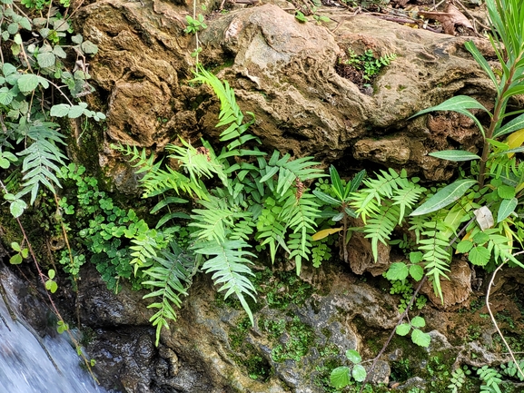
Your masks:
<svg viewBox="0 0 524 393"><path fill-rule="evenodd" d="M34 142L22 152L16 153L23 157L24 173L23 189L16 194L16 198L31 193L30 203L33 204L41 184L53 193L56 193L54 187L61 187L55 173L60 172L59 165L65 165L64 160L67 157L56 145L65 144L64 136L58 132L58 124L36 121L29 125L26 136Z"/></svg>

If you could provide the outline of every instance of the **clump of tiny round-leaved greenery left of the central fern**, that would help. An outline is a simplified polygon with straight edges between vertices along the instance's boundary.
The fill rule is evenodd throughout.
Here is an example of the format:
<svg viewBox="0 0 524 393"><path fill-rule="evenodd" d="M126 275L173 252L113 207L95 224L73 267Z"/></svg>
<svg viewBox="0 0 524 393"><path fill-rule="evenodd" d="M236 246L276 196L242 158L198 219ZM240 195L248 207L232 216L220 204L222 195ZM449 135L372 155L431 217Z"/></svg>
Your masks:
<svg viewBox="0 0 524 393"><path fill-rule="evenodd" d="M140 278L133 278L133 260L141 260L141 246L156 255L167 240L162 233L150 230L133 210L118 207L112 198L98 187L98 182L84 174L84 167L73 163L63 167L58 177L63 179L71 194L60 201L61 217L70 229L78 231L79 237L72 243L73 255L62 251L60 263L74 277L86 261L84 251L92 253L91 262L96 266L110 290L118 290L121 279L132 280L133 286L141 288ZM130 246L133 241L133 246ZM73 263L71 262L73 260Z"/></svg>

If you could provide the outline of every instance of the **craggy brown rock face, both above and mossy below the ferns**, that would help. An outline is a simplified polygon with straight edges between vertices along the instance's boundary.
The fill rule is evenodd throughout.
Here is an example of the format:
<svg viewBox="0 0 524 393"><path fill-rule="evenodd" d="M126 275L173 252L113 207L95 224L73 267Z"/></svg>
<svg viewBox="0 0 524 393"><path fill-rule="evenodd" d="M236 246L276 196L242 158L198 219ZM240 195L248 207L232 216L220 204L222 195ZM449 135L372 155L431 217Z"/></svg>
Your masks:
<svg viewBox="0 0 524 393"><path fill-rule="evenodd" d="M218 143L217 100L206 87L190 83L195 40L183 33L190 12L184 2L100 0L77 13L82 34L99 47L90 68L97 93L89 98L107 114L99 162L121 192L135 192L136 181L111 143L156 154L179 137ZM301 24L270 4L208 16L209 27L200 34L200 60L229 81L244 113L255 114L252 133L264 149L314 155L345 172L382 165L406 168L431 181L449 180L455 167L428 152L459 146L475 151L477 131L465 117L435 114L409 120L462 93L489 107L493 91L464 49L464 38L343 13L340 24L329 28ZM474 41L492 55L487 41ZM348 48L397 58L362 93L337 74ZM348 249L351 269L380 275L391 263L390 248L380 247L380 263L375 264L369 241L355 234ZM470 294L466 268L458 265L457 277L442 284L455 290L460 283L460 293L446 299L449 305ZM322 279L316 276L321 274ZM120 298L104 292L100 283L86 281L83 319L95 329L90 348L102 358L98 372L114 386L136 393L321 392L330 367L343 363L343 351L359 349L371 359L376 350L363 337L376 339L370 338L372 331L381 338L385 329L393 329L399 313L388 294L357 286L345 273L319 270L311 277L330 282L330 290L290 303L286 312L262 304L253 329L246 328L245 316L234 305L216 305L209 282L198 282L175 328L163 332L159 349L153 347L150 314L143 311L140 296L126 292L126 301L117 304ZM143 314L133 312L134 306ZM139 328L128 330L131 326ZM305 353L299 343L308 348ZM374 380L387 383L388 363L379 368Z"/></svg>

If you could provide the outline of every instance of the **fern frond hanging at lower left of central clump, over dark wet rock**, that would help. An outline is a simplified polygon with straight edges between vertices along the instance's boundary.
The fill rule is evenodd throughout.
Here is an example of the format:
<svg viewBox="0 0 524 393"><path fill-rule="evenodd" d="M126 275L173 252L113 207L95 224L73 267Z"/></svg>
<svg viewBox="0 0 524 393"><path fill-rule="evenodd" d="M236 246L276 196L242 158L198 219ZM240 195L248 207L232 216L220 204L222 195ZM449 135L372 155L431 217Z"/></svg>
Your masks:
<svg viewBox="0 0 524 393"><path fill-rule="evenodd" d="M143 274L149 280L144 280L142 284L154 289L144 295L143 299L160 298L160 301L148 306L148 309L158 309L149 319L156 327L156 346L162 328L169 329L168 319L176 320L173 305L178 308L182 305L180 296L187 295L187 287L191 284L191 278L197 267L195 256L184 252L174 241L170 243L170 249L161 252L160 256L154 256L153 266L143 270Z"/></svg>

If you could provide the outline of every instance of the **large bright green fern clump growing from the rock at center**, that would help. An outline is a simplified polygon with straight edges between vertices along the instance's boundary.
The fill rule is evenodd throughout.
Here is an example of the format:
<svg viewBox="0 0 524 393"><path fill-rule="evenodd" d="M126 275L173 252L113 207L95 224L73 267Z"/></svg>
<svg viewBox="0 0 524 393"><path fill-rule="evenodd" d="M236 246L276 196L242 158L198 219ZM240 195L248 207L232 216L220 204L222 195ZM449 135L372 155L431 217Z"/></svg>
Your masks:
<svg viewBox="0 0 524 393"><path fill-rule="evenodd" d="M169 144L165 151L172 162L177 162L179 171L154 162L153 156L138 152L133 147L117 147L130 156L139 173L144 173L144 197L161 197L152 212L163 211L156 225L160 241L180 228L175 219L188 220L193 241L183 252L202 258L202 270L212 274L217 289L224 298L231 295L240 300L242 308L253 323L248 298L256 301L256 291L250 277L250 265L256 255L248 241L259 241L258 251L269 245L272 260L282 248L288 258L294 260L297 273L302 262L311 256L311 234L315 231L318 218L318 203L306 192L304 182L322 176L317 162L310 157L292 159L290 154L273 152L266 159L265 153L256 147L245 148L246 142L259 142L247 133L254 117L244 123L244 115L236 103L234 93L227 84L213 74L199 68L193 82L209 84L221 103L219 123L225 127L221 141L226 146L216 154L212 146L202 141L199 147L180 140L180 145ZM254 160L243 162L242 157ZM217 180L210 182L212 180ZM209 185L211 184L211 186ZM182 203L193 199L193 210L188 215ZM187 208L189 209L189 208ZM163 244L147 239L143 230L133 237L133 260L135 271L146 268L158 257ZM148 231L154 237L155 232ZM147 270L145 270L147 271ZM162 280L165 280L162 284ZM173 293L180 286L170 284L168 275L158 276L156 286L172 287ZM247 297L247 298L246 298ZM164 296L163 300L169 300ZM179 305L178 298L173 304ZM167 319L174 319L173 309L159 303L153 324L157 329L167 326ZM159 332L160 330L157 330Z"/></svg>

